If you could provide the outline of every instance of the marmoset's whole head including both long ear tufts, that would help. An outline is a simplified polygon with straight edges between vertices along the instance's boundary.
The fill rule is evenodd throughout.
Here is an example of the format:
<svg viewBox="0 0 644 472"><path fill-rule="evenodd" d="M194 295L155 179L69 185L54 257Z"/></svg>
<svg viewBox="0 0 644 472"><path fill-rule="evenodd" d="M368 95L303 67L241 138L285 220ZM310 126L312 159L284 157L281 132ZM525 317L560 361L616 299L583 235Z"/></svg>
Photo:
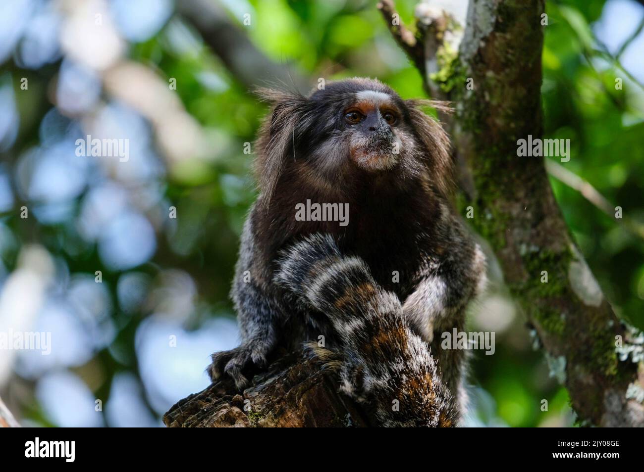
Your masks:
<svg viewBox="0 0 644 472"><path fill-rule="evenodd" d="M264 201L278 183L281 195L298 185L336 194L365 185L400 189L413 179L448 191L449 140L421 100L402 100L368 78L332 82L310 96L261 94L273 104L258 139Z"/></svg>

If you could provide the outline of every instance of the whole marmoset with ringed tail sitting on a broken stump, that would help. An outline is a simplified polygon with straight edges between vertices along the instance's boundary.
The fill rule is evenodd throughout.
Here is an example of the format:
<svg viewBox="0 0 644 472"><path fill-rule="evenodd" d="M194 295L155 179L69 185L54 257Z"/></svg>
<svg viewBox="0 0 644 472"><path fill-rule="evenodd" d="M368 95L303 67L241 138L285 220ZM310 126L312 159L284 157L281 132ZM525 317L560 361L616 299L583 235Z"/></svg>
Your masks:
<svg viewBox="0 0 644 472"><path fill-rule="evenodd" d="M422 111L441 104L366 78L260 93L272 104L256 143L260 195L232 287L242 344L213 354L211 379L241 389L276 347L313 341L382 426L456 426L466 356L440 349L440 333L464 329L485 258L450 203L448 137ZM348 219L297 217L310 202Z"/></svg>

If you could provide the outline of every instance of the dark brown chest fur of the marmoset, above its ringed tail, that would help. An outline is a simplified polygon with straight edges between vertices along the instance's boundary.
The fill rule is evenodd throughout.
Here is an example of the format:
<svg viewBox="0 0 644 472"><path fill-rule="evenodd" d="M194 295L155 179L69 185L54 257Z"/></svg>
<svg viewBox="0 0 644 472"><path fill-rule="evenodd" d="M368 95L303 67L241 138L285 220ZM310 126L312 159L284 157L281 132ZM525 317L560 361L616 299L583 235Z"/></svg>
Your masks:
<svg viewBox="0 0 644 472"><path fill-rule="evenodd" d="M298 195L299 197L299 195ZM368 264L379 286L404 300L418 281L419 269L435 254L440 228L438 203L431 195L361 194L346 201L293 197L263 218L260 233L270 234L267 260L314 233L328 233L346 256Z"/></svg>

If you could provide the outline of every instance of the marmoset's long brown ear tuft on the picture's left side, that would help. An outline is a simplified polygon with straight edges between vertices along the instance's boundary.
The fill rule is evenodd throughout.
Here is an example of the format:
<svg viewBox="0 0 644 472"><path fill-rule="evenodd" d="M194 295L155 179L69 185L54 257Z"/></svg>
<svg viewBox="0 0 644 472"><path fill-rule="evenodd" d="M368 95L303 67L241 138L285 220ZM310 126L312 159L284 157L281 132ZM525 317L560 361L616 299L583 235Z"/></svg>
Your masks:
<svg viewBox="0 0 644 472"><path fill-rule="evenodd" d="M256 143L255 172L261 190L261 204L268 206L278 183L283 163L294 157L295 141L310 107L308 98L277 89L256 90L261 100L272 107L264 119Z"/></svg>

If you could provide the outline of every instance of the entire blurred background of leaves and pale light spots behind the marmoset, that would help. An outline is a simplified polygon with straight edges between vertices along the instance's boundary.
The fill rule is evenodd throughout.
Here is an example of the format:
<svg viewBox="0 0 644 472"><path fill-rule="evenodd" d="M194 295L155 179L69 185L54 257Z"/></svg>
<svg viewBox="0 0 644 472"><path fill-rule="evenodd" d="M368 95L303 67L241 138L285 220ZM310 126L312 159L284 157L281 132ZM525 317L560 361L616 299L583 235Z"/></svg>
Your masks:
<svg viewBox="0 0 644 472"><path fill-rule="evenodd" d="M308 86L359 75L424 96L375 1L210 3L232 30L204 38L172 0L0 2L0 332L52 333L48 356L0 350L0 397L24 426L161 426L209 384L209 354L238 343L228 292L255 195L245 143L267 111L249 84L288 67ZM467 1L429 3L464 18ZM416 4L397 1L406 24ZM554 191L604 293L642 329L644 5L546 11L546 136L573 149ZM236 64L221 53L231 31L250 40ZM276 69L253 69L258 53ZM128 161L77 156L88 134L129 140ZM605 211L618 205L621 220ZM469 327L494 331L496 352L473 355L468 423L574 424L494 263L490 277Z"/></svg>

